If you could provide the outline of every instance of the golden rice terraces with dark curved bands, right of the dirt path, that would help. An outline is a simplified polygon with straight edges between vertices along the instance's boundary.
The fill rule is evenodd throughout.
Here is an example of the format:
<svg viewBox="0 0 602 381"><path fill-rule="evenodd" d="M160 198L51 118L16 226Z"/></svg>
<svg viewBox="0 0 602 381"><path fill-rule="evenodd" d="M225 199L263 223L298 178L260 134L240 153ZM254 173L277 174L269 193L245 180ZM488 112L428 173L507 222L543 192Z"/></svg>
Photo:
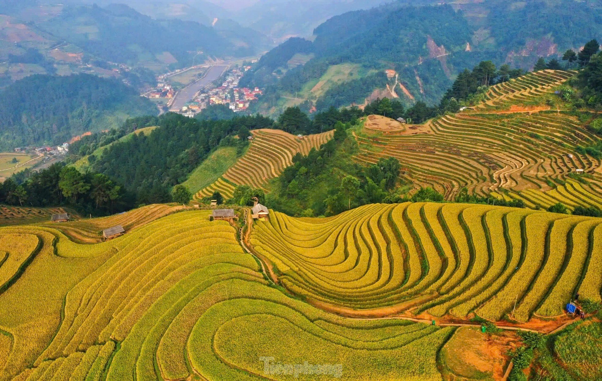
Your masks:
<svg viewBox="0 0 602 381"><path fill-rule="evenodd" d="M250 244L285 288L314 303L362 316L476 312L526 322L562 314L577 291L601 300L601 239L602 219L406 203L326 219L272 212L254 224Z"/></svg>

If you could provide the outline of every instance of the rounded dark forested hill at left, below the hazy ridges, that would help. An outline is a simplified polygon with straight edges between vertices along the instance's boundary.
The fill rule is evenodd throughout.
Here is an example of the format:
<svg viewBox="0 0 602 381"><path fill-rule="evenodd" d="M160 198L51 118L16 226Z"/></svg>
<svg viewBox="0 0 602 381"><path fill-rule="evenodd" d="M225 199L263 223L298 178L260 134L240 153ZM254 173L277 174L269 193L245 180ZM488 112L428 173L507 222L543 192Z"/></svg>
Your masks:
<svg viewBox="0 0 602 381"><path fill-rule="evenodd" d="M119 127L157 108L122 82L92 75L36 75L0 91L0 149L61 144L88 131Z"/></svg>

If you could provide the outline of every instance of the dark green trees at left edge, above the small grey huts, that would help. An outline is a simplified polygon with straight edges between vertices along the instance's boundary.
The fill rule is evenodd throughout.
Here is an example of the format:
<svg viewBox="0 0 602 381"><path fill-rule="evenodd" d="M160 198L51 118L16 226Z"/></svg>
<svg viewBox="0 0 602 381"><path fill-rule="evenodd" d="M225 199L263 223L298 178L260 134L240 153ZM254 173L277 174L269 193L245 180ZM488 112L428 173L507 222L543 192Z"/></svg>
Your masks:
<svg viewBox="0 0 602 381"><path fill-rule="evenodd" d="M71 206L82 213L107 215L134 207L134 198L104 174L82 174L55 163L39 172L26 171L0 184L0 203L18 206Z"/></svg>

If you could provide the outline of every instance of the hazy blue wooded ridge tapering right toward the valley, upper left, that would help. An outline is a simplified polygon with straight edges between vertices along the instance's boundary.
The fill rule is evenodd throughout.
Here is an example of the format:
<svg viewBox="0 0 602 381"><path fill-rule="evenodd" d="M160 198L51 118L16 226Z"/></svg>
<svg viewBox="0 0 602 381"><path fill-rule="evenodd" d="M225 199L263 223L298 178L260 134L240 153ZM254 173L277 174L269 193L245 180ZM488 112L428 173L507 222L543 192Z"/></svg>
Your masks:
<svg viewBox="0 0 602 381"><path fill-rule="evenodd" d="M220 56L255 53L252 47L234 46L211 26L154 20L126 5L66 7L59 16L40 24L40 28L92 55L115 62L147 61L163 52L169 52L178 61L187 61L191 50Z"/></svg>

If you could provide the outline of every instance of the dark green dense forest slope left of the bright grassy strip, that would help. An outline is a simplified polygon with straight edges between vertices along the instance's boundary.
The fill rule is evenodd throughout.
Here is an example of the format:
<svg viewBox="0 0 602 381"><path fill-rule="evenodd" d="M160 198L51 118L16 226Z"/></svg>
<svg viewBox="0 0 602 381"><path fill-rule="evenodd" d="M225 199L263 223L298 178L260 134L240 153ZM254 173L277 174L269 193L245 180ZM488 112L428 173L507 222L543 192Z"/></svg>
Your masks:
<svg viewBox="0 0 602 381"><path fill-rule="evenodd" d="M272 120L261 116L200 121L173 113L155 120L134 121L143 125L156 124L159 128L149 135L133 134L130 139L114 142L91 164L93 171L124 184L126 190L135 194L138 204L170 201L170 189L184 182L220 144L243 150L248 141L235 138L236 135L248 136L251 129L270 128L273 124ZM132 123L135 124L129 121L130 126ZM90 140L96 141L98 137ZM82 147L87 145L82 144L79 148L81 153L86 153L93 146ZM75 159L77 157L73 157Z"/></svg>

